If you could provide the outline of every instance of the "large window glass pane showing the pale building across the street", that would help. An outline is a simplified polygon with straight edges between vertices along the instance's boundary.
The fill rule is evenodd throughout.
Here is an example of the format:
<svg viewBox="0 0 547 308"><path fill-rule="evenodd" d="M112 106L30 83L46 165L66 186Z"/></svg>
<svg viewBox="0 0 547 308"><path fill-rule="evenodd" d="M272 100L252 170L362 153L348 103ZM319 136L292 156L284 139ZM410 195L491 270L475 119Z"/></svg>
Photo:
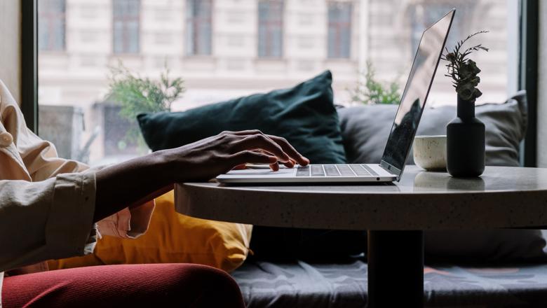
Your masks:
<svg viewBox="0 0 547 308"><path fill-rule="evenodd" d="M518 56L511 51L518 45L511 35L518 29L513 2L39 0L39 132L62 157L118 162L148 151L138 135L138 112L184 111L292 87L326 69L336 104L370 102L360 95L367 70L389 92L385 102L398 103L421 31L452 7L449 48L489 30L470 42L490 48L472 55L482 70L478 104L503 102L512 94L508 80L515 80L508 67ZM142 99L148 90L128 90L125 103L114 99L107 94L119 63L146 85L161 83L168 69L170 82L183 80L180 95L171 102L171 87L161 104ZM428 106L456 103L443 65Z"/></svg>

